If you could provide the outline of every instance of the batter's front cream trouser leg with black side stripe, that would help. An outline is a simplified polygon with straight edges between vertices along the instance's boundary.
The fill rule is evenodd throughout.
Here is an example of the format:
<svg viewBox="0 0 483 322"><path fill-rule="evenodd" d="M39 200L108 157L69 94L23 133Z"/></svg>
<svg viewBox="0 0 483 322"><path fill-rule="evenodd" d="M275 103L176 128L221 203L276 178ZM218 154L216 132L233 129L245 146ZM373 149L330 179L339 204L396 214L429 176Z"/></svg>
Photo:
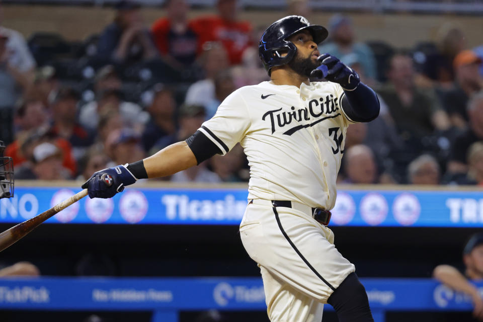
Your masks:
<svg viewBox="0 0 483 322"><path fill-rule="evenodd" d="M251 207L253 206L253 207ZM257 263L296 291L326 303L354 265L331 244L323 228L290 208L250 205L240 227Z"/></svg>

